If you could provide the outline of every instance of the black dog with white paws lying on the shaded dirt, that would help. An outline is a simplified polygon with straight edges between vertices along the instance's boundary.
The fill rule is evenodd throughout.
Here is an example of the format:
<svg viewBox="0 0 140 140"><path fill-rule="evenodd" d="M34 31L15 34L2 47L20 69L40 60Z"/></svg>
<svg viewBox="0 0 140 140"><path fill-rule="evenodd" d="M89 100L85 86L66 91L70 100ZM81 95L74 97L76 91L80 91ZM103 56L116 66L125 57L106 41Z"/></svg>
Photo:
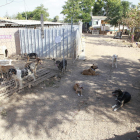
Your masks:
<svg viewBox="0 0 140 140"><path fill-rule="evenodd" d="M115 99L117 103L112 106L114 111L117 111L131 100L131 94L126 91L122 92L120 89L113 91L112 95L117 97Z"/></svg>

